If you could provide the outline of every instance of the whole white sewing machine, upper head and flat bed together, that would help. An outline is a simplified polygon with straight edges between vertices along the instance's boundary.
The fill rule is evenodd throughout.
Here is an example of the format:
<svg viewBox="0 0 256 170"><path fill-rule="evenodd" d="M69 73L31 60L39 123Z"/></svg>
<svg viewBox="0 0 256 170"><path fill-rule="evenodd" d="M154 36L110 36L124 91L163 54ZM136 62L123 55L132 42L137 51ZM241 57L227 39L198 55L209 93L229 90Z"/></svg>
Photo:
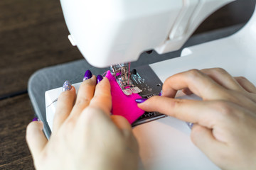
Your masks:
<svg viewBox="0 0 256 170"><path fill-rule="evenodd" d="M111 65L113 74L121 72L122 89L131 85L127 84L130 77L128 65L118 63L138 60L142 52L151 49L159 54L178 50L205 18L230 1L233 0L60 0L72 44L93 66ZM162 82L188 69L223 67L233 76L247 77L256 84L255 44L256 13L235 35L185 48L181 57L149 67ZM76 89L79 85L74 84ZM139 93L134 89L126 92ZM55 113L53 101L60 93L61 88L46 91L50 128ZM146 169L219 169L193 145L191 130L181 120L164 117L137 125L133 131Z"/></svg>

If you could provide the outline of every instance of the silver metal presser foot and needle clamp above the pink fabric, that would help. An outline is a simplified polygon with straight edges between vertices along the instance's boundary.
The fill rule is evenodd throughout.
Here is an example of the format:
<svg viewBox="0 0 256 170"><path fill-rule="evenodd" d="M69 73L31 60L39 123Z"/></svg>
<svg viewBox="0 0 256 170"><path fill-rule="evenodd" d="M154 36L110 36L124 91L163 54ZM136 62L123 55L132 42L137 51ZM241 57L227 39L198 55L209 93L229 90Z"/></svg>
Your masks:
<svg viewBox="0 0 256 170"><path fill-rule="evenodd" d="M129 96L132 94L139 94L142 89L134 85L132 81L132 74L136 72L130 72L130 63L115 64L110 66L110 71L112 75L116 78L117 83L124 92L125 95Z"/></svg>

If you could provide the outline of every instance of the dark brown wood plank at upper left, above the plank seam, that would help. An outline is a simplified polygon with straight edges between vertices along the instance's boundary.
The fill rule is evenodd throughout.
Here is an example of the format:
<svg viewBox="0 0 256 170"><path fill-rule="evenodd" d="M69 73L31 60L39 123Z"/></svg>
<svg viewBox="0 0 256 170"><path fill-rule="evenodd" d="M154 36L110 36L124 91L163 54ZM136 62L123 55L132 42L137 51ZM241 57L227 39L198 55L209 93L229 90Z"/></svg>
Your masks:
<svg viewBox="0 0 256 170"><path fill-rule="evenodd" d="M38 69L82 59L68 40L59 1L1 0L0 22L0 96L26 90Z"/></svg>

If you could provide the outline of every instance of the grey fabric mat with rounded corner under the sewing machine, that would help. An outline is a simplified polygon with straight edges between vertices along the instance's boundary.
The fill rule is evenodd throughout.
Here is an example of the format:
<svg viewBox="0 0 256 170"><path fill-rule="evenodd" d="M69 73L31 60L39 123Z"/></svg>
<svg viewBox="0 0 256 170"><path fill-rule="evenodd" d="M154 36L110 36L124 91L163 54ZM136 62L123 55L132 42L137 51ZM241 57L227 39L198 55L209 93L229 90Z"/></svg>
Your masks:
<svg viewBox="0 0 256 170"><path fill-rule="evenodd" d="M237 32L242 25L232 26L230 28L223 28L221 30L215 30L200 35L191 37L183 47L189 47L197 45L210 40L216 40L219 38L232 35ZM182 49L182 48L181 48ZM178 57L181 54L181 50L176 52L170 52L165 55L158 55L156 52L152 52L150 55L145 52L141 55L137 62L132 62L132 67L138 67L144 64L152 64L154 62L160 62L168 60L174 57ZM36 112L36 116L44 123L44 132L46 137L50 137L50 128L46 123L46 108L45 108L45 92L50 89L55 89L63 85L65 80L71 80L74 84L82 81L85 71L90 69L92 74L102 74L107 69L98 69L92 67L85 60L78 60L75 62L69 62L66 64L56 65L54 67L46 67L35 72L28 81L28 94L31 98L31 103Z"/></svg>

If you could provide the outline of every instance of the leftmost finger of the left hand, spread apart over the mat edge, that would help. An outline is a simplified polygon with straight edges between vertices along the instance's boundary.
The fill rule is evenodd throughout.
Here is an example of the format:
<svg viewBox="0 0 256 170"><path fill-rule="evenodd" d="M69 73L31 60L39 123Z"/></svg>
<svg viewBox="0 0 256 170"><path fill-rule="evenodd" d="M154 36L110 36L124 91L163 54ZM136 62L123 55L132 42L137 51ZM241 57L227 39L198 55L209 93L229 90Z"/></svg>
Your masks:
<svg viewBox="0 0 256 170"><path fill-rule="evenodd" d="M43 123L41 121L28 124L26 128L26 141L33 158L37 159L48 142L43 134Z"/></svg>

